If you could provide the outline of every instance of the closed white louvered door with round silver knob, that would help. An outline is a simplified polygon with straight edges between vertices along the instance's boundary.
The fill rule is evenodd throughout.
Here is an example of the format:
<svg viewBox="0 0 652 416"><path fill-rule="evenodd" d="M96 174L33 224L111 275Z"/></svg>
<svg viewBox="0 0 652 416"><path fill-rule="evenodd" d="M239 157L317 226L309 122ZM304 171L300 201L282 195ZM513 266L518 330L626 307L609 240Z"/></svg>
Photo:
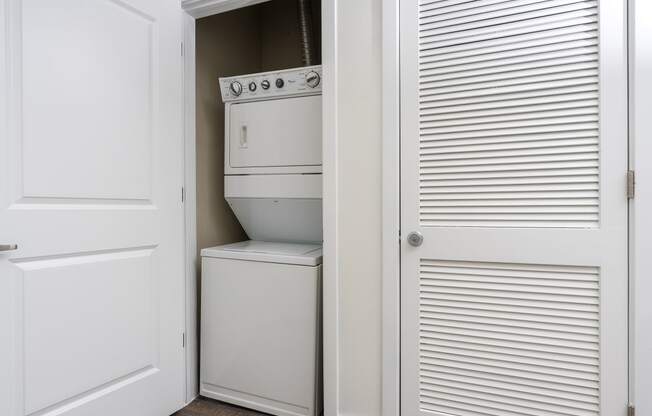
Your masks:
<svg viewBox="0 0 652 416"><path fill-rule="evenodd" d="M403 415L624 415L626 1L400 11Z"/></svg>

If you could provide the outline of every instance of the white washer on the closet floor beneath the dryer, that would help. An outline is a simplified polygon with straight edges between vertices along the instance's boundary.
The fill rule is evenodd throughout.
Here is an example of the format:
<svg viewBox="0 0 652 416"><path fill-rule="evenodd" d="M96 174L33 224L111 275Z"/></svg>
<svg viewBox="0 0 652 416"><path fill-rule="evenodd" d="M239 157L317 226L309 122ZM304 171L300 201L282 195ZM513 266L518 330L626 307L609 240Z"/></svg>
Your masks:
<svg viewBox="0 0 652 416"><path fill-rule="evenodd" d="M244 241L201 256L201 395L319 415L321 245Z"/></svg>

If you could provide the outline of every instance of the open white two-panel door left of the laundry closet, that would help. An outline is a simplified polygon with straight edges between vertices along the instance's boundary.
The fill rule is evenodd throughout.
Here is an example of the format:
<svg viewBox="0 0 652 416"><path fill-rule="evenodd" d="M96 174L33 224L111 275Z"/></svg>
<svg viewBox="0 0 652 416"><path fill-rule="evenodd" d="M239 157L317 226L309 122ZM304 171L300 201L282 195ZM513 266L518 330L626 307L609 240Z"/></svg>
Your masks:
<svg viewBox="0 0 652 416"><path fill-rule="evenodd" d="M0 414L183 404L175 0L0 1Z"/></svg>

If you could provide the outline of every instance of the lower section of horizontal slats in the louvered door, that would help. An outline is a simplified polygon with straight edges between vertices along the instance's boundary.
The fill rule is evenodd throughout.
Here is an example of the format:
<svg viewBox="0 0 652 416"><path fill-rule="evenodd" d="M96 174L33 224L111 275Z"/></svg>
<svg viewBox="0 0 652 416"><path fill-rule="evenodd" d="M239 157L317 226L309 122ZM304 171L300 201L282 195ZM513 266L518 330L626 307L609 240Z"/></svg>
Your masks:
<svg viewBox="0 0 652 416"><path fill-rule="evenodd" d="M599 414L597 268L421 260L419 286L422 410Z"/></svg>

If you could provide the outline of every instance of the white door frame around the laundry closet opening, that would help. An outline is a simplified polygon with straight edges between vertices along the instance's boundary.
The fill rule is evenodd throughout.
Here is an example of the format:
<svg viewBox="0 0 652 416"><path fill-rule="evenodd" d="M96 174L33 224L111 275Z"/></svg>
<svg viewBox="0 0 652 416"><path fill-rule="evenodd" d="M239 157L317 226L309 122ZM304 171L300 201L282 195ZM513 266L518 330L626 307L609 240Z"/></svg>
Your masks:
<svg viewBox="0 0 652 416"><path fill-rule="evenodd" d="M195 148L195 20L268 0L182 0L185 216L186 402L199 395L197 191ZM337 2L322 0L323 387L324 414L339 413L339 272L337 260Z"/></svg>

